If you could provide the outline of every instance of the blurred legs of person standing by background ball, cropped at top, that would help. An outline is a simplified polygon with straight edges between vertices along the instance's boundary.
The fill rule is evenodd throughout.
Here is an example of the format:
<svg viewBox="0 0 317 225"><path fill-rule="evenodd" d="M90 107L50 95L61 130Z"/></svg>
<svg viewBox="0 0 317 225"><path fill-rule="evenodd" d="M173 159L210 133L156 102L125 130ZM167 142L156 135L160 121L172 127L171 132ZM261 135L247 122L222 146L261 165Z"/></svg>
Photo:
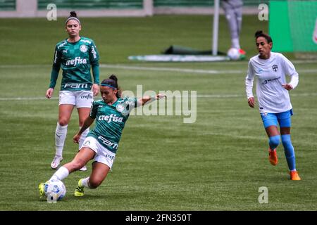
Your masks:
<svg viewBox="0 0 317 225"><path fill-rule="evenodd" d="M228 27L231 37L231 48L238 49L240 55L245 56L246 52L240 46L240 32L242 27L242 0L221 1L225 18L228 20Z"/></svg>

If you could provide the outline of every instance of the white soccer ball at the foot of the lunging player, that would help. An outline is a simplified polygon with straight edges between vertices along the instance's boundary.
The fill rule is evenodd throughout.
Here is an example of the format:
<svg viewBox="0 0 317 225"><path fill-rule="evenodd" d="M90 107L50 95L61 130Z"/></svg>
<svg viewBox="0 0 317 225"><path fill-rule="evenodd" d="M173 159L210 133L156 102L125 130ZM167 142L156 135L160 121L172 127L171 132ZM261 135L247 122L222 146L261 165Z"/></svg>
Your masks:
<svg viewBox="0 0 317 225"><path fill-rule="evenodd" d="M62 181L52 179L46 182L44 193L48 201L59 201L66 195L66 187Z"/></svg>

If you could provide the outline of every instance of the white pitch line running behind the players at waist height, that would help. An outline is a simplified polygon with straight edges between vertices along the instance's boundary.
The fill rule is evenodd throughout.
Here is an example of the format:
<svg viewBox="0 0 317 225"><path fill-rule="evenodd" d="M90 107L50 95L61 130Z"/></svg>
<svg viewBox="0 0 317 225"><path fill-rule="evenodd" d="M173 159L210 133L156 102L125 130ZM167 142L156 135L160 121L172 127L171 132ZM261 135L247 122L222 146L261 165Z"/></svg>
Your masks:
<svg viewBox="0 0 317 225"><path fill-rule="evenodd" d="M291 94L291 97L300 97L300 96L317 96L317 93L303 93L303 94ZM182 96L173 96L175 98L181 98ZM197 98L244 98L245 95L242 94L197 94ZM57 97L52 97L50 99L57 100ZM99 99L99 98L98 98ZM42 101L49 99L45 97L25 97L25 98L0 98L0 101Z"/></svg>

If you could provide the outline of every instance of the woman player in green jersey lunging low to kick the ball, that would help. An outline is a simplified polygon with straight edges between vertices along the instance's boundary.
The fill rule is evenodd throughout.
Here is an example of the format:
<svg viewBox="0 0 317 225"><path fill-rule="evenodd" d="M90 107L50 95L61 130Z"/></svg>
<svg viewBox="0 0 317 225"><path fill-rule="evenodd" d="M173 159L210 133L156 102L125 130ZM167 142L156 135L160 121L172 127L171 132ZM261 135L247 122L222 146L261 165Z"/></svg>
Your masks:
<svg viewBox="0 0 317 225"><path fill-rule="evenodd" d="M164 94L157 94L156 96L144 96L139 99L121 98L118 79L115 75L111 75L111 77L101 82L100 93L102 100L92 103L89 117L87 117L80 130L74 136L74 142L79 142L82 134L94 120L96 120L96 126L89 131L80 152L77 153L73 161L60 167L51 176L51 179L61 181L71 172L75 172L85 166L89 160L94 160L90 176L78 181L75 196L84 195L85 187L97 188L106 179L116 157L118 143L130 111L145 103L151 103L166 97ZM44 185L45 183L39 184L40 195L44 195Z"/></svg>

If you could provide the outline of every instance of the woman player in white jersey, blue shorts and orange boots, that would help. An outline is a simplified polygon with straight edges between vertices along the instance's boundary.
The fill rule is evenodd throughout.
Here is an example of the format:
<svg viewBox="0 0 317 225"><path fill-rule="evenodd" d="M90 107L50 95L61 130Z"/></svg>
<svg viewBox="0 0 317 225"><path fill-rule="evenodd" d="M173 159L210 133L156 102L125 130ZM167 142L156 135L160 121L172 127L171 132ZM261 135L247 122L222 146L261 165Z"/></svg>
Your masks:
<svg viewBox="0 0 317 225"><path fill-rule="evenodd" d="M255 101L252 93L254 77L256 95L259 101L266 134L268 134L268 159L272 165L278 164L276 148L282 139L287 165L290 169L290 179L300 180L296 170L295 153L290 138L292 104L288 91L294 89L299 81L299 75L294 65L280 53L272 52L273 41L268 34L258 31L255 34L256 47L259 55L249 60L249 68L245 79L248 103L254 108ZM290 76L290 83L285 76ZM280 124L280 132L278 131Z"/></svg>

